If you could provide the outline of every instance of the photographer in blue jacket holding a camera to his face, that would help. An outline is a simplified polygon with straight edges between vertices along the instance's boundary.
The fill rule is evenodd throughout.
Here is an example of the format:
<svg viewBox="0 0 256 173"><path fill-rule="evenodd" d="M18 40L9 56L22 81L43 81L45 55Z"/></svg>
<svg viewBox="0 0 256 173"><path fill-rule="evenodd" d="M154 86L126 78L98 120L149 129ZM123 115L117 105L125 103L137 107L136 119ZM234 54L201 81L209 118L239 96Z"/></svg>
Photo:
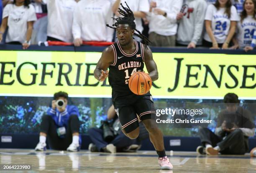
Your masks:
<svg viewBox="0 0 256 173"><path fill-rule="evenodd" d="M46 136L54 150L79 151L79 112L74 105L68 105L68 94L62 91L54 94L51 108L43 115L39 143L35 150L46 150Z"/></svg>

